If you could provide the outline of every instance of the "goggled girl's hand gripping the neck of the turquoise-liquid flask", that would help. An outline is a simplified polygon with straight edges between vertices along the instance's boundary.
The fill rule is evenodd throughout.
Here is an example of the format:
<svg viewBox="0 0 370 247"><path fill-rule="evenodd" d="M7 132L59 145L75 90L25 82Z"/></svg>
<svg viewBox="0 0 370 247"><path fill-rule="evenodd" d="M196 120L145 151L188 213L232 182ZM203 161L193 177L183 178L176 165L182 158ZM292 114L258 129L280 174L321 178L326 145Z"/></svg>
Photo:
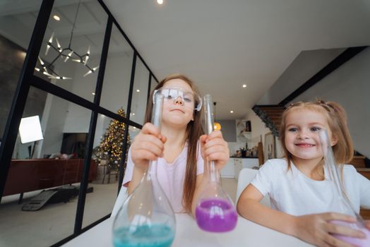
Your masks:
<svg viewBox="0 0 370 247"><path fill-rule="evenodd" d="M145 123L140 133L133 139L131 158L133 164L145 171L149 160L163 157L164 143L167 138L160 134L160 130L152 123Z"/></svg>

